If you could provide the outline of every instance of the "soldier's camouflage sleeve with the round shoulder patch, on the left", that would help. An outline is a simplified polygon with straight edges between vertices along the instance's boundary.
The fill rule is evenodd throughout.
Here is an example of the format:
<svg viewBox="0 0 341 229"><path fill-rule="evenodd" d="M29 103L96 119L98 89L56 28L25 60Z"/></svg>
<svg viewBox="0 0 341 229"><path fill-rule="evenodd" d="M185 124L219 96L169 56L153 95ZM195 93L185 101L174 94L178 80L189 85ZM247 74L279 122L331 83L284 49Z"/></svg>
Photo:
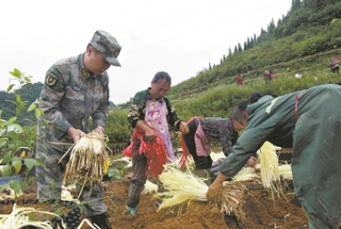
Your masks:
<svg viewBox="0 0 341 229"><path fill-rule="evenodd" d="M51 132L57 139L62 138L71 127L59 111L59 102L65 95L65 82L58 68L52 66L45 75L45 83L39 98L39 108L45 113L45 120L52 126Z"/></svg>

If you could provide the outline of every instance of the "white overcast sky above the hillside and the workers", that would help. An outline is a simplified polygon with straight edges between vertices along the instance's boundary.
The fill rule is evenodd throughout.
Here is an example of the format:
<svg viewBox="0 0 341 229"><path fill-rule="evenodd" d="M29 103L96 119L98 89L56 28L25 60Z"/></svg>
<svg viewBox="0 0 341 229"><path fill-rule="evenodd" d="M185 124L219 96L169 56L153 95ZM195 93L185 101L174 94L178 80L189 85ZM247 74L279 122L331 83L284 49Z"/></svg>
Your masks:
<svg viewBox="0 0 341 229"><path fill-rule="evenodd" d="M43 82L57 60L85 52L97 29L122 45L110 101L125 103L158 71L172 85L218 65L228 48L260 35L291 0L0 0L0 90L14 68Z"/></svg>

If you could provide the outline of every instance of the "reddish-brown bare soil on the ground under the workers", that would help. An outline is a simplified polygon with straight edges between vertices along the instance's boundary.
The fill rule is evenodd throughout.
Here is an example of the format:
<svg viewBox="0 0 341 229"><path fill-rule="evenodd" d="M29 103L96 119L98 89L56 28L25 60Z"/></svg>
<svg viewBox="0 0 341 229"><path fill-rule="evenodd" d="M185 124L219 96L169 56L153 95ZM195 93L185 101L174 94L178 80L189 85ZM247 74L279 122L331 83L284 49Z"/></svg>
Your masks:
<svg viewBox="0 0 341 229"><path fill-rule="evenodd" d="M213 205L204 202L192 201L186 204L181 214L171 212L169 209L157 211L156 200L153 194L141 194L141 202L135 216L125 212L126 198L130 184L130 173L116 181L105 181L105 204L110 215L109 222L112 228L146 228L146 229L256 229L256 228L308 228L306 217L302 207L291 204L294 198L292 186L286 186L283 195L275 195L275 200L269 196L262 184L256 181L243 182L247 187L247 194L244 198L245 204L241 209L246 214L246 222L238 222L236 217L221 214L213 210ZM154 179L155 180L155 179ZM153 178L150 177L153 182ZM25 194L20 200L32 200L27 204L19 205L24 207L33 206L35 209L54 212L54 206L48 202L36 204L36 184L25 188ZM75 193L73 193L75 196ZM0 203L1 204L1 203ZM10 214L12 204L2 204L0 214ZM36 216L39 218L39 216ZM82 214L81 219L85 216ZM90 229L83 225L82 229Z"/></svg>

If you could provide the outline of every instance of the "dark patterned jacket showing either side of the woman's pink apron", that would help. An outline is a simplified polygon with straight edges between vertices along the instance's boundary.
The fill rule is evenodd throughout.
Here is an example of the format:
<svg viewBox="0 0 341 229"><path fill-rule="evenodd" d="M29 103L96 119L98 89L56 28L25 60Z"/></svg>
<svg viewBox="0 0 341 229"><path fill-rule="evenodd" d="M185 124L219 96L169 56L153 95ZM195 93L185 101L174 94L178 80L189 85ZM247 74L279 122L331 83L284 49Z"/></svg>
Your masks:
<svg viewBox="0 0 341 229"><path fill-rule="evenodd" d="M136 122L138 120L145 121L145 107L147 99L152 99L149 91L150 87L144 91L138 92L135 96L131 99L131 106L128 114L128 122L132 126L132 130L135 128ZM167 115L167 122L171 124L173 127L179 129L180 119L176 114L176 110L174 109L173 105L171 104L168 97L164 96L158 99L159 102L165 103L168 109Z"/></svg>

